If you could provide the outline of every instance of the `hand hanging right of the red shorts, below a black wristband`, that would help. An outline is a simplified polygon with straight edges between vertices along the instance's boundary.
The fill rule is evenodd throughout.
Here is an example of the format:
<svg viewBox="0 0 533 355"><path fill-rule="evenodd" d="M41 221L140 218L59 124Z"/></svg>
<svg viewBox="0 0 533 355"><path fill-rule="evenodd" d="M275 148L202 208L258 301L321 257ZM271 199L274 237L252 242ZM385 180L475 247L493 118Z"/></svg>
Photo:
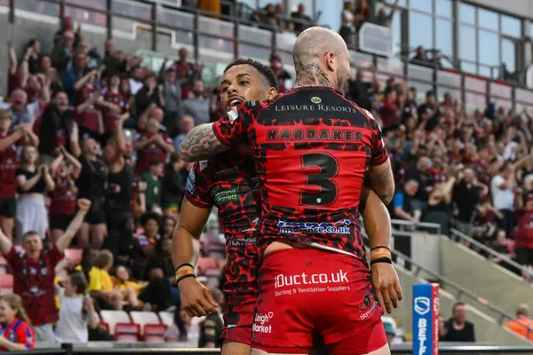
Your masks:
<svg viewBox="0 0 533 355"><path fill-rule="evenodd" d="M387 313L393 312L402 301L402 287L398 274L392 264L378 263L372 265L372 283L376 289L379 304Z"/></svg>

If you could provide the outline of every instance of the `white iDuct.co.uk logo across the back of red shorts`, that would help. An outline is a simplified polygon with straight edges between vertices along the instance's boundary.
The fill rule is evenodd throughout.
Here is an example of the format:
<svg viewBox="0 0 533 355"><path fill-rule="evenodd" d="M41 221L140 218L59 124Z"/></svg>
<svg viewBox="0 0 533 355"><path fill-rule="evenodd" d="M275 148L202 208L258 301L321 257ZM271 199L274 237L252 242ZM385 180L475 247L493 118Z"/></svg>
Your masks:
<svg viewBox="0 0 533 355"><path fill-rule="evenodd" d="M342 270L330 273L307 274L306 272L302 272L298 275L277 275L274 278L274 288L283 289L281 291L275 291L275 296L292 295L297 292L316 293L326 291L348 291L350 290L350 287L343 285L348 283L348 281L347 273Z"/></svg>

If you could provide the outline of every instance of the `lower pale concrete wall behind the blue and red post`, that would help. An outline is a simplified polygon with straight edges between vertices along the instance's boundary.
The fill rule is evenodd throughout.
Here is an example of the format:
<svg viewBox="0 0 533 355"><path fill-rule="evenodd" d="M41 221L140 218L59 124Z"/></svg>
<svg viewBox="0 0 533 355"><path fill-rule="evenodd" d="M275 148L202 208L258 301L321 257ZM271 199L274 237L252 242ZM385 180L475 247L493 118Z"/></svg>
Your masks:
<svg viewBox="0 0 533 355"><path fill-rule="evenodd" d="M411 272L406 271L402 267L396 266L400 281L402 283L403 301L394 310L392 316L394 319L399 319L402 322L402 327L406 332L412 332L412 299L413 299L413 285L425 280L415 277ZM515 335L505 327L497 324L497 321L490 317L487 313L475 308L473 304L468 304L466 299L461 299L467 304L468 319L473 322L475 327L476 341L483 343L492 343L499 345L530 345L529 341L521 336ZM444 318L451 315L451 307L456 302L454 296L449 294L446 290L441 289L440 304L441 313ZM477 306L477 305L476 305Z"/></svg>

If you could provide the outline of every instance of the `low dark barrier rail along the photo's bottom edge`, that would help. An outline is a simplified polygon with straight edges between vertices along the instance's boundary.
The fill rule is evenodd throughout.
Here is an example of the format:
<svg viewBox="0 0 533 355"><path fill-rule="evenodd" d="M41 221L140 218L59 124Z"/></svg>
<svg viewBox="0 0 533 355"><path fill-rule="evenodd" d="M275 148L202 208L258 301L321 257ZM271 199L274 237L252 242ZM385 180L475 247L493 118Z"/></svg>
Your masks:
<svg viewBox="0 0 533 355"><path fill-rule="evenodd" d="M163 345L163 344L162 344ZM412 344L402 343L391 345L391 352L393 355L408 355L412 354ZM497 345L465 345L465 344L448 344L442 343L439 345L439 352L442 354L531 354L533 347L529 346L497 346ZM11 351L10 353L28 354L28 351ZM158 344L149 343L146 347L140 347L139 344L123 343L115 347L90 347L87 345L63 344L62 349L46 349L31 351L35 355L115 355L122 353L124 355L133 354L163 354L163 355L219 355L219 349L187 349L187 348L173 348L169 346L158 346Z"/></svg>

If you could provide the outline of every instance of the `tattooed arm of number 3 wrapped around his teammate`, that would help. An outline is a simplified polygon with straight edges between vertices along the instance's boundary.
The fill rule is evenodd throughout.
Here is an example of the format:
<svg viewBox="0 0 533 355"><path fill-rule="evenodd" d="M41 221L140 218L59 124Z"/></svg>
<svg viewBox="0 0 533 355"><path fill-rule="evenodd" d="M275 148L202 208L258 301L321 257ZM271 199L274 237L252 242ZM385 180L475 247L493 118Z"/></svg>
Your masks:
<svg viewBox="0 0 533 355"><path fill-rule="evenodd" d="M179 154L185 162L198 162L229 149L215 135L212 123L199 124L187 133L179 146Z"/></svg>

